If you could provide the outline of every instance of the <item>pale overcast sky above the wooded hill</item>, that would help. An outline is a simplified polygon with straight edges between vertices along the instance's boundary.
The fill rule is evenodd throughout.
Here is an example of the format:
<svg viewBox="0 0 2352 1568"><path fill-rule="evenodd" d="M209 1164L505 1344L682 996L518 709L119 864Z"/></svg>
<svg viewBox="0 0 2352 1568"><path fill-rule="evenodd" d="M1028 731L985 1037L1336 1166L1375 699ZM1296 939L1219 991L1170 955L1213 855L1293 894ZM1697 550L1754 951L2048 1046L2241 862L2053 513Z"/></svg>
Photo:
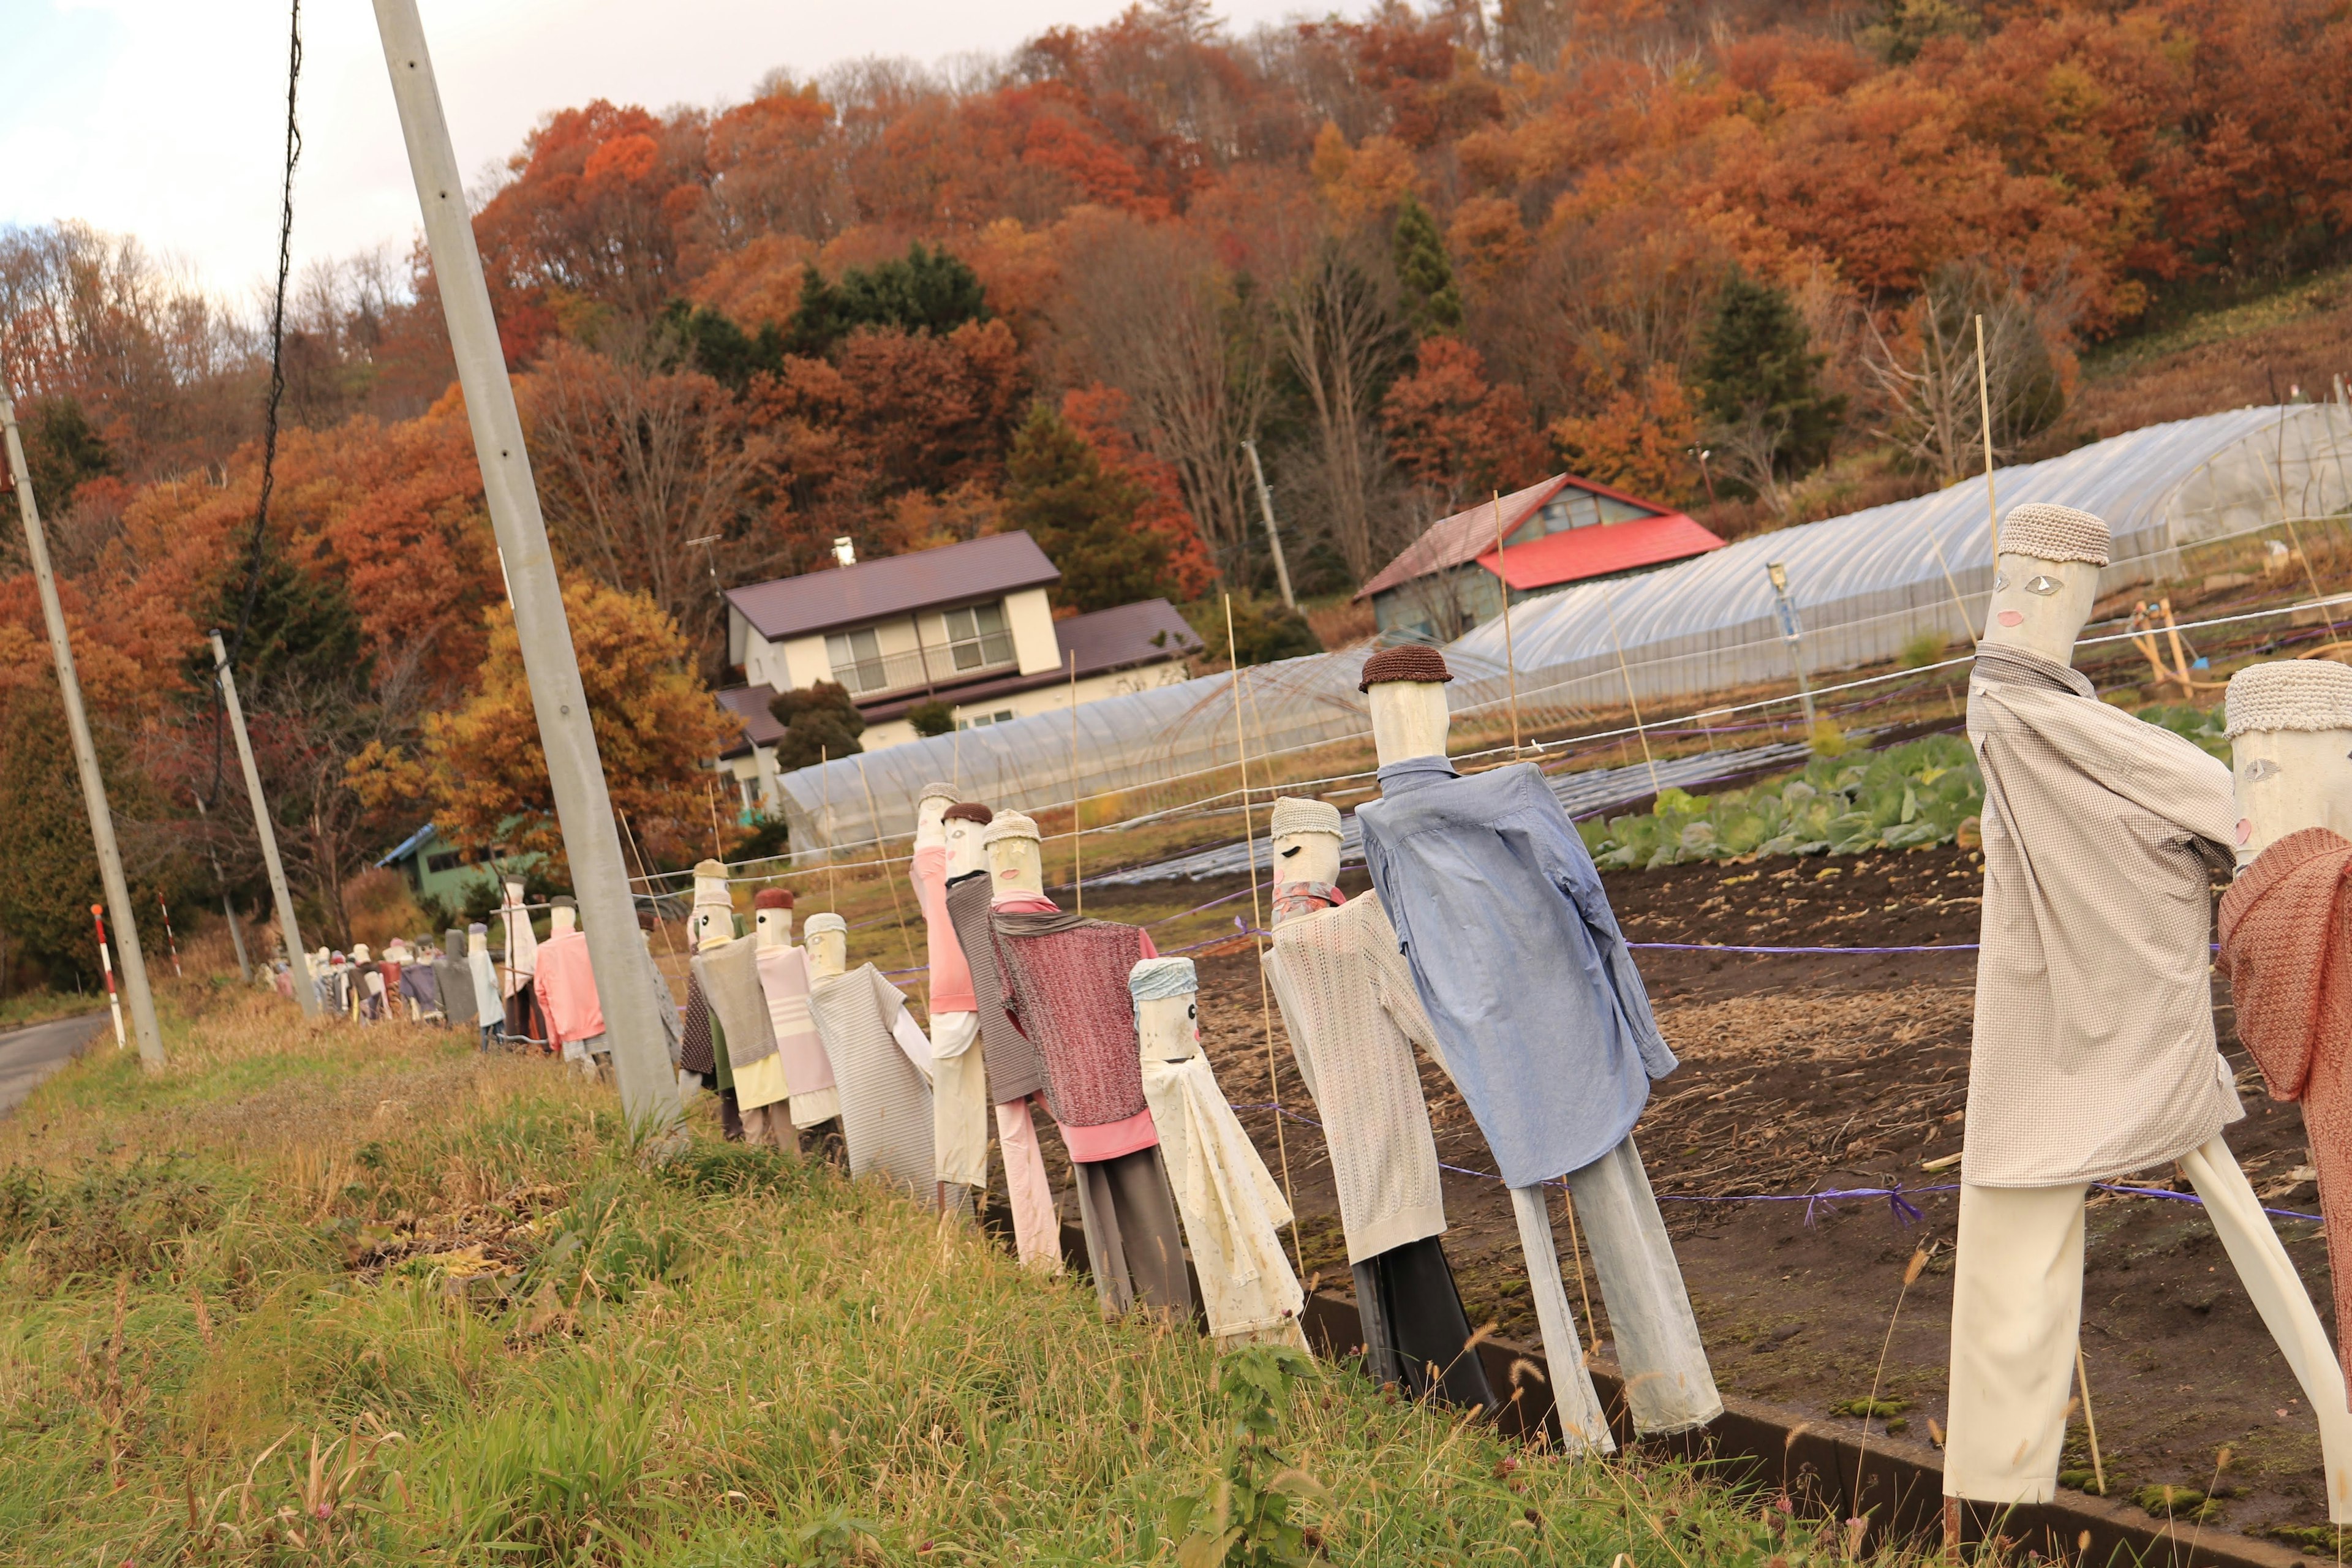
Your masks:
<svg viewBox="0 0 2352 1568"><path fill-rule="evenodd" d="M741 101L767 71L1000 54L1124 0L421 0L468 179L588 99ZM1237 31L1357 2L1221 0ZM278 249L287 0L0 0L0 223L134 233L249 296ZM303 7L296 266L416 233L374 7Z"/></svg>

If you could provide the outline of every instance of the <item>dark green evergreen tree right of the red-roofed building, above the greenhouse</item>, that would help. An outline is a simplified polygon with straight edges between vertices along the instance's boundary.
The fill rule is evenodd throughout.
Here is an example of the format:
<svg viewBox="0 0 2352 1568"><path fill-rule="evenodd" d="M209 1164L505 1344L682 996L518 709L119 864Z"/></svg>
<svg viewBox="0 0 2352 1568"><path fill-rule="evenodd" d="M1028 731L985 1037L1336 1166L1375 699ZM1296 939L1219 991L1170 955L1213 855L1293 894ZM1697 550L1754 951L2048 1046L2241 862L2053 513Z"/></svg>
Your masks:
<svg viewBox="0 0 2352 1568"><path fill-rule="evenodd" d="M1830 458L1846 418L1846 400L1820 388L1825 362L1788 294L1733 273L1708 322L1698 407L1722 430L1752 433L1771 475L1806 475Z"/></svg>

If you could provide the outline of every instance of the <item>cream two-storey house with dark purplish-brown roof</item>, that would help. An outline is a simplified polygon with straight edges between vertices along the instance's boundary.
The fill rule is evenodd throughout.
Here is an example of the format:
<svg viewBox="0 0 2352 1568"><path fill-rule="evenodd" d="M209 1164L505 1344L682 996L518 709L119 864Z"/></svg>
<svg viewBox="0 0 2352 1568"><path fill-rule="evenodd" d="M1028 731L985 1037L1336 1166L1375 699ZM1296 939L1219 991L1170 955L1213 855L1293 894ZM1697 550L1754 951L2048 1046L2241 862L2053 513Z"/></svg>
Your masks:
<svg viewBox="0 0 2352 1568"><path fill-rule="evenodd" d="M743 738L720 769L746 811L769 792L779 691L840 682L866 717L868 752L915 738L908 710L946 703L957 729L1185 679L1200 637L1167 599L1054 618L1061 571L1028 534L807 571L727 590L727 661L743 684L720 703Z"/></svg>

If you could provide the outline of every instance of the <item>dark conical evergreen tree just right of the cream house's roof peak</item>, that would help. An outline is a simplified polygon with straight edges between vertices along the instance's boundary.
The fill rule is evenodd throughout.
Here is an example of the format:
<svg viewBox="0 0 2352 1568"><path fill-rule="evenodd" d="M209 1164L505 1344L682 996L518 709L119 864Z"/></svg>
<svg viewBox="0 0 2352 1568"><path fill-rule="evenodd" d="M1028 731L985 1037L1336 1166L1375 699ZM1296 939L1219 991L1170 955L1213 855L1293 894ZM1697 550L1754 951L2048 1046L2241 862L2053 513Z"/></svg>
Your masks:
<svg viewBox="0 0 2352 1568"><path fill-rule="evenodd" d="M1028 529L1061 567L1054 599L1082 611L1174 592L1167 536L1141 527L1148 496L1049 404L1035 404L1004 458L1004 527Z"/></svg>

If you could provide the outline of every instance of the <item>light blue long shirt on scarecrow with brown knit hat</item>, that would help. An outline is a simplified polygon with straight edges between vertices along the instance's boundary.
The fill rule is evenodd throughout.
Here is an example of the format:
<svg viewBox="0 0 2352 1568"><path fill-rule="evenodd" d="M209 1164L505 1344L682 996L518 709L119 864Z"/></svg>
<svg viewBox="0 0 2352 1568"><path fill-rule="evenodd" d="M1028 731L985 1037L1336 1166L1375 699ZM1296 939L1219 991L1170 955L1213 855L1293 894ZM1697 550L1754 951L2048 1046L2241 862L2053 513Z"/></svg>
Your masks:
<svg viewBox="0 0 2352 1568"><path fill-rule="evenodd" d="M1534 764L1381 769L1364 863L1503 1180L1581 1171L1675 1070L1576 823Z"/></svg>

